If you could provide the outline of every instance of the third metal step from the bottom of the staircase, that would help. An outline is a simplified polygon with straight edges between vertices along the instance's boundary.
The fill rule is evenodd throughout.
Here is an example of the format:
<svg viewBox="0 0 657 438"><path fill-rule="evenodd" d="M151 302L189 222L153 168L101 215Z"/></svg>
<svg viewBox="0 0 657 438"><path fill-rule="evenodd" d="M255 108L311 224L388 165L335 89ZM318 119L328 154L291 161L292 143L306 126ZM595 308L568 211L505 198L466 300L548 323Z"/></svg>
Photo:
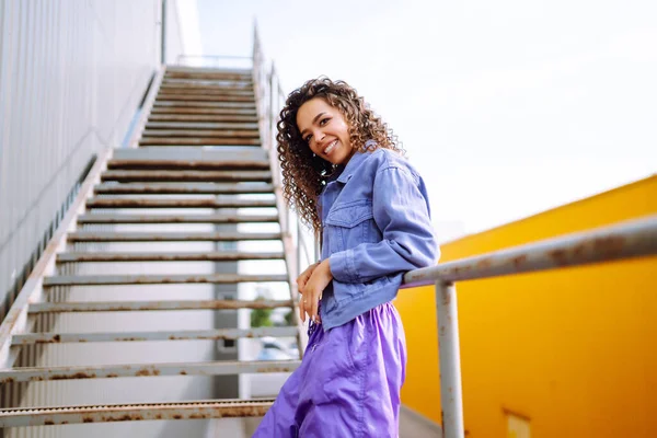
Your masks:
<svg viewBox="0 0 657 438"><path fill-rule="evenodd" d="M12 336L12 345L65 344L92 342L145 342L145 341L219 341L243 337L296 336L296 326L257 328L215 328L172 332L115 332L115 333L21 333Z"/></svg>

